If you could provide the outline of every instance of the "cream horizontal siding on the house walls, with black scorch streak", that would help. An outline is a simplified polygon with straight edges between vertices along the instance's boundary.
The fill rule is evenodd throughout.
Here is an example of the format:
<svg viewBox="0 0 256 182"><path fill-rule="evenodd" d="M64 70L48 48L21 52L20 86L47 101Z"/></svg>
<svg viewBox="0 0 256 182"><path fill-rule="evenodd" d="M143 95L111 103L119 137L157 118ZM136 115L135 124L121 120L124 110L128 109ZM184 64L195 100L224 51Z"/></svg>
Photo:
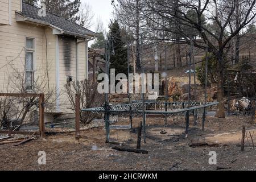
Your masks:
<svg viewBox="0 0 256 182"><path fill-rule="evenodd" d="M8 26L0 26L0 92L10 92L10 88L13 88L14 85L7 86L9 78L13 79L12 76L15 73L13 68L18 69L19 72L24 72L26 37L34 38L36 49L35 78L39 78L39 81L48 82L51 89L56 89L59 92L60 97L56 101L59 107L55 111L71 113L71 110L67 109L70 106L68 97L64 93L64 85L67 84L66 76L72 76L73 81L76 80L76 38L53 35L52 28L40 24L16 22L15 11L20 11L20 1L13 0L11 2L12 23ZM2 9L0 12L2 13ZM59 50L56 50L56 47L59 47ZM78 44L77 48L78 80L83 80L86 76L85 42ZM48 77L46 74L47 62ZM57 72L56 68L59 68ZM13 79L11 82L15 82L15 80ZM58 82L59 84L57 84Z"/></svg>

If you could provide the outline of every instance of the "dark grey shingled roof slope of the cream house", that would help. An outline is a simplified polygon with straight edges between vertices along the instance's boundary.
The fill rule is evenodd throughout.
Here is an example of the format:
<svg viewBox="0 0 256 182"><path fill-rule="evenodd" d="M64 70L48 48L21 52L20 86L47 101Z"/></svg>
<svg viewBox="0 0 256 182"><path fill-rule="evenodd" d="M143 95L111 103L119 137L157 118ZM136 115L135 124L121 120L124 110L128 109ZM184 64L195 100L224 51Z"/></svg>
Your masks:
<svg viewBox="0 0 256 182"><path fill-rule="evenodd" d="M67 19L61 18L60 16L46 13L46 16L39 16L38 15L39 8L28 5L27 3L22 3L22 12L20 12L23 16L26 16L28 18L41 20L47 23L52 24L53 26L56 26L60 28L61 30L64 30L64 32L72 32L74 34L80 34L80 35L86 35L86 34L95 34L93 31L88 30L87 28L84 28L80 26L79 24L73 23Z"/></svg>

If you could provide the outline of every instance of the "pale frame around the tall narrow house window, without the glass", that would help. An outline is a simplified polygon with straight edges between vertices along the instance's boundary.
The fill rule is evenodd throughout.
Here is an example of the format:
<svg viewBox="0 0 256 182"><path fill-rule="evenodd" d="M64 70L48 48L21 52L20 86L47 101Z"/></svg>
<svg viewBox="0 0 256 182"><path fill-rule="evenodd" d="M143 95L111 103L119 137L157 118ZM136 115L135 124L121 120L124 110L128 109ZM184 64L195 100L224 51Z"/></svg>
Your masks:
<svg viewBox="0 0 256 182"><path fill-rule="evenodd" d="M27 39L31 39L32 41L33 41L33 48L27 48ZM36 45L35 45L35 43L36 43L36 38L32 38L32 37L29 37L29 36L25 36L25 88L26 88L26 90L28 91L28 92L31 92L32 91L32 89L33 89L33 86L34 86L34 81L35 81L35 55L36 55ZM33 60L32 60L32 70L27 70L27 67L26 67L26 62L27 62L27 52L31 52L32 53L32 55L33 55ZM27 89L27 72L30 72L30 73L32 73L31 74L31 79L32 79L32 89Z"/></svg>

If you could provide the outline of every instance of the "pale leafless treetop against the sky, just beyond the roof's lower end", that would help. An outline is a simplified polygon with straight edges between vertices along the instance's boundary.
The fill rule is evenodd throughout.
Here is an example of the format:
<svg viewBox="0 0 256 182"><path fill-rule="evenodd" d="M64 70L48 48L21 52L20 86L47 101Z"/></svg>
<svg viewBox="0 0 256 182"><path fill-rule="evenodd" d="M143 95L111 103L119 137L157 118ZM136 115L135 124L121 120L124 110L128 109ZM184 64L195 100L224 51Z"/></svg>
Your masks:
<svg viewBox="0 0 256 182"><path fill-rule="evenodd" d="M92 7L89 3L84 2L80 5L79 12L77 13L79 17L78 24L85 28L90 28L93 25L94 13Z"/></svg>

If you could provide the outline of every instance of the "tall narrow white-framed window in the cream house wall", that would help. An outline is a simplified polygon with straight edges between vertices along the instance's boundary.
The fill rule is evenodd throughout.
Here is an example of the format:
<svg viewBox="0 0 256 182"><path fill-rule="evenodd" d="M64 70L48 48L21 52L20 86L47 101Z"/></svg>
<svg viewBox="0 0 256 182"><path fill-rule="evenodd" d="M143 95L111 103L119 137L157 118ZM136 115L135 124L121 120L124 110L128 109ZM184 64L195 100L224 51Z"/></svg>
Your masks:
<svg viewBox="0 0 256 182"><path fill-rule="evenodd" d="M26 38L26 89L33 89L35 63L35 39Z"/></svg>

